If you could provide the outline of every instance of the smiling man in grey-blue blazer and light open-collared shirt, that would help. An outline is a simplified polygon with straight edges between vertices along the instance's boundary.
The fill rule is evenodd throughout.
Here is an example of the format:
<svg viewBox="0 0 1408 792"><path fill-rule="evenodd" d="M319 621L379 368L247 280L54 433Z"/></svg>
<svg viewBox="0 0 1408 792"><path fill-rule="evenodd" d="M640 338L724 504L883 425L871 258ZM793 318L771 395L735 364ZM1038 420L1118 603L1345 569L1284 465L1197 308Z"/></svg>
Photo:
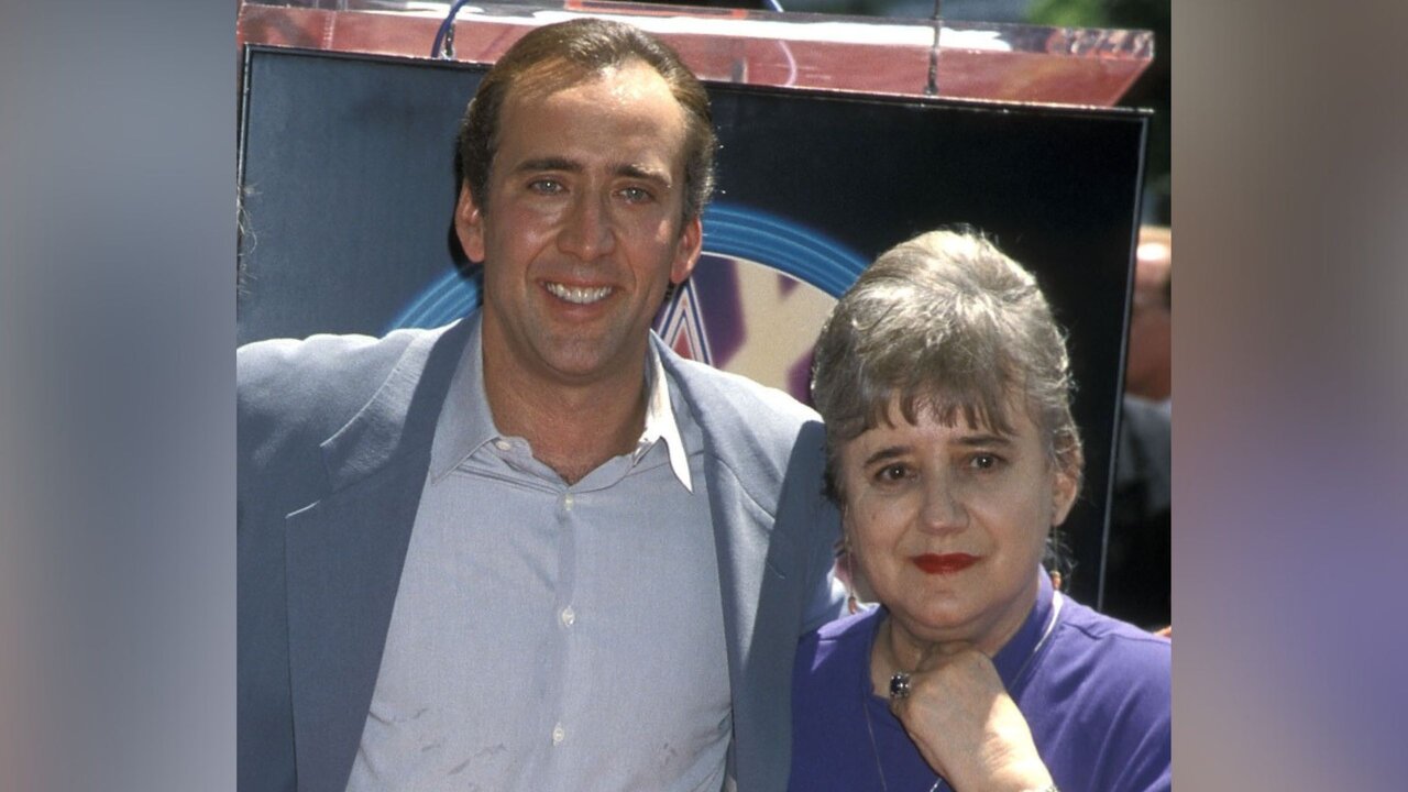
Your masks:
<svg viewBox="0 0 1408 792"><path fill-rule="evenodd" d="M822 430L649 331L715 145L655 38L538 28L460 128L483 309L241 349L241 789L784 788Z"/></svg>

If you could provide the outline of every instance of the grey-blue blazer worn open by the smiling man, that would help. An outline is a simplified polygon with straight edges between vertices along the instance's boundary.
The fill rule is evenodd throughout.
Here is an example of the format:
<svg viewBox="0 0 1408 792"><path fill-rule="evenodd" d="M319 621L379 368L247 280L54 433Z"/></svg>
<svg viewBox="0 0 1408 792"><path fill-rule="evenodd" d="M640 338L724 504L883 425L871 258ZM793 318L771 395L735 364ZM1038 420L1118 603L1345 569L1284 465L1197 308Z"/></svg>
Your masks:
<svg viewBox="0 0 1408 792"><path fill-rule="evenodd" d="M466 321L238 352L238 786L342 792ZM653 340L704 434L742 792L787 785L798 636L839 614L824 434Z"/></svg>

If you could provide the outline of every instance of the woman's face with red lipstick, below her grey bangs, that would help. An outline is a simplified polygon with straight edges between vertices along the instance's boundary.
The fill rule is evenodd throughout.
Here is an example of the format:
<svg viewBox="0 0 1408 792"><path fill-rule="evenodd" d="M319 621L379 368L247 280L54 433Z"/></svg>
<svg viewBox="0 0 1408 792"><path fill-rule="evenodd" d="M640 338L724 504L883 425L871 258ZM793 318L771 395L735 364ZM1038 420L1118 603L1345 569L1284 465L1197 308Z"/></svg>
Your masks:
<svg viewBox="0 0 1408 792"><path fill-rule="evenodd" d="M970 641L995 652L1036 602L1046 531L1076 497L1076 479L1046 458L1025 404L1012 434L908 423L890 404L881 423L839 454L845 527L855 561L917 641Z"/></svg>

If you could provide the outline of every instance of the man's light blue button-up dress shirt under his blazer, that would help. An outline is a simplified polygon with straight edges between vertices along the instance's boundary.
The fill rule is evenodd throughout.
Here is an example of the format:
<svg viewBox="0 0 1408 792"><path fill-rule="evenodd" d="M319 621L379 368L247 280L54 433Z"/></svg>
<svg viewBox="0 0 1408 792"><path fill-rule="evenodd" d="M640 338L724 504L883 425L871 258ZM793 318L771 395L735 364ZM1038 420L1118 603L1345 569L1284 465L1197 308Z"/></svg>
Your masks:
<svg viewBox="0 0 1408 792"><path fill-rule="evenodd" d="M703 438L650 355L638 448L569 486L494 428L472 330L351 792L722 786L732 720Z"/></svg>

